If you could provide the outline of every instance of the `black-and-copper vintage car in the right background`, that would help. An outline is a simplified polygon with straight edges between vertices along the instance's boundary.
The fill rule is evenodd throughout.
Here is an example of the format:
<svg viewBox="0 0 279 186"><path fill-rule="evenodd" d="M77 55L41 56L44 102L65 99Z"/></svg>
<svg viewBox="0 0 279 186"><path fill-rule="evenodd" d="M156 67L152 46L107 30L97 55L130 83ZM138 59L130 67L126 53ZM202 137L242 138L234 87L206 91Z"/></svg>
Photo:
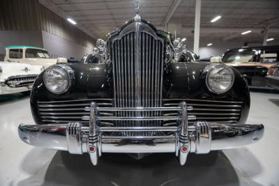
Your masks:
<svg viewBox="0 0 279 186"><path fill-rule="evenodd" d="M229 49L223 54L222 61L239 70L248 85L267 86L264 77L279 61L279 45Z"/></svg>

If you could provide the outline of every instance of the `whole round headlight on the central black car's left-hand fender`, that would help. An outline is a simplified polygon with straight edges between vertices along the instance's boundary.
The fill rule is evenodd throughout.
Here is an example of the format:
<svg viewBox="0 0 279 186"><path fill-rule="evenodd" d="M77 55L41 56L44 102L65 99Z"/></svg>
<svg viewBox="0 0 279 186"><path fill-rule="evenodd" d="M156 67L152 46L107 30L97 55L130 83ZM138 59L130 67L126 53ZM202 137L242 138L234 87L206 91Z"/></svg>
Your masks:
<svg viewBox="0 0 279 186"><path fill-rule="evenodd" d="M45 70L43 80L47 90L52 93L64 93L70 88L73 70L68 66L54 65Z"/></svg>

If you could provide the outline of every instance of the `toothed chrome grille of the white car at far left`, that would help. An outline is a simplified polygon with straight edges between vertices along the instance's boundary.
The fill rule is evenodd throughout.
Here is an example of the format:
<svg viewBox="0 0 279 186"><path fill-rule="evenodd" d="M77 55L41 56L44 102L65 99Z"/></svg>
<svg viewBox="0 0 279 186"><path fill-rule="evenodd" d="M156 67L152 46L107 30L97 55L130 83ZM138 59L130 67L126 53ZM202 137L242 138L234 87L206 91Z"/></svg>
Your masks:
<svg viewBox="0 0 279 186"><path fill-rule="evenodd" d="M37 75L10 77L6 80L6 84L12 88L32 85L36 77Z"/></svg>

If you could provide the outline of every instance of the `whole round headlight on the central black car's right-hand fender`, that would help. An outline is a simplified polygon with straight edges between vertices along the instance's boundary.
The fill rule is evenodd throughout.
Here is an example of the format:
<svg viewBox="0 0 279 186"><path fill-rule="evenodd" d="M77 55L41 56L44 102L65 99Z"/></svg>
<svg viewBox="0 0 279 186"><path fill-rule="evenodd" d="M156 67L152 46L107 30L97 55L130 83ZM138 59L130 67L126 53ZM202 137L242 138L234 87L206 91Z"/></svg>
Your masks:
<svg viewBox="0 0 279 186"><path fill-rule="evenodd" d="M216 66L206 75L206 85L213 93L225 93L234 84L234 72L226 66Z"/></svg>

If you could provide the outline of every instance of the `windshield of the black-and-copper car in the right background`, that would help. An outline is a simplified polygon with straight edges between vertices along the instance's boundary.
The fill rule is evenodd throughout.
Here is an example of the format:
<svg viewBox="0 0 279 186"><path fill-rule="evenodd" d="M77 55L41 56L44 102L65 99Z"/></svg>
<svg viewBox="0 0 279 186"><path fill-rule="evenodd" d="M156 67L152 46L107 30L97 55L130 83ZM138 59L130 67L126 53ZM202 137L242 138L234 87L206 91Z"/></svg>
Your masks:
<svg viewBox="0 0 279 186"><path fill-rule="evenodd" d="M244 52L227 52L222 61L224 63L246 63L251 62L255 55L254 51L244 51Z"/></svg>

